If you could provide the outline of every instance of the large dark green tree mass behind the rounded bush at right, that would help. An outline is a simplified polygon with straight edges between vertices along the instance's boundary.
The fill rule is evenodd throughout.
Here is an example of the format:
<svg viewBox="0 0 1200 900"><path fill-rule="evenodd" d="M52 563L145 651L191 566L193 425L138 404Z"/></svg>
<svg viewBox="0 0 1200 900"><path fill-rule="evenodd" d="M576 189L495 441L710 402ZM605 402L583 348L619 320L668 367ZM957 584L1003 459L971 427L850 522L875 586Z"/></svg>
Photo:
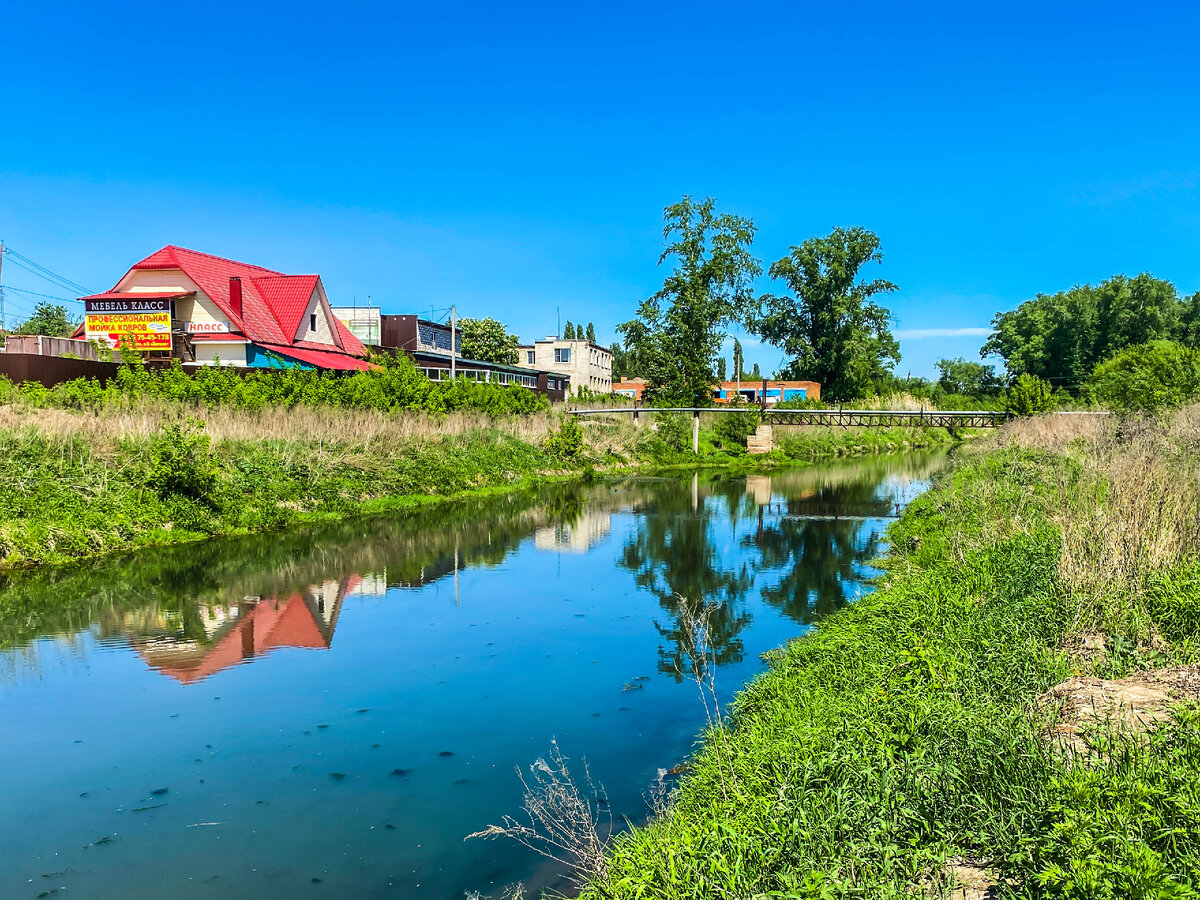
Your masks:
<svg viewBox="0 0 1200 900"><path fill-rule="evenodd" d="M1181 302L1171 282L1148 272L1116 275L1096 287L1038 294L996 313L979 354L1000 355L1014 377L1028 373L1074 394L1117 350L1175 337L1188 341L1193 320L1190 299Z"/></svg>

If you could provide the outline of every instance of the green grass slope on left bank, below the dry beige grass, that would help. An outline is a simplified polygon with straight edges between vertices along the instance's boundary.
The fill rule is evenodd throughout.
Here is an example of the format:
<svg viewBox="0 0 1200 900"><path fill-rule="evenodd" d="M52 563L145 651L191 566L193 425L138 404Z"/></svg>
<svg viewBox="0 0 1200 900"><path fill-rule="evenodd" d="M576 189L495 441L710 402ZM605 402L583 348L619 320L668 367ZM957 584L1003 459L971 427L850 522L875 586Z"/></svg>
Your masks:
<svg viewBox="0 0 1200 900"><path fill-rule="evenodd" d="M386 451L300 439L191 445L197 437L168 428L113 448L0 432L0 568L512 490L563 468L542 448L486 430Z"/></svg>

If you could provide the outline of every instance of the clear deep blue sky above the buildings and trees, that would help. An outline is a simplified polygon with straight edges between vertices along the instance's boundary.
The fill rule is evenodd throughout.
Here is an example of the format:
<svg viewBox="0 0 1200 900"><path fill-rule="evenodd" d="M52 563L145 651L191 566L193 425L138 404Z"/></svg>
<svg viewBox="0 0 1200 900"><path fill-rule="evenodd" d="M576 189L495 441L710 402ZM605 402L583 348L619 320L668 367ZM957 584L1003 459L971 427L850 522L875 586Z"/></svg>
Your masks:
<svg viewBox="0 0 1200 900"><path fill-rule="evenodd" d="M1037 292L1200 288L1198 32L1184 2L13 4L0 239L97 290L179 244L606 341L662 208L712 196L766 262L875 230L898 371L932 374Z"/></svg>

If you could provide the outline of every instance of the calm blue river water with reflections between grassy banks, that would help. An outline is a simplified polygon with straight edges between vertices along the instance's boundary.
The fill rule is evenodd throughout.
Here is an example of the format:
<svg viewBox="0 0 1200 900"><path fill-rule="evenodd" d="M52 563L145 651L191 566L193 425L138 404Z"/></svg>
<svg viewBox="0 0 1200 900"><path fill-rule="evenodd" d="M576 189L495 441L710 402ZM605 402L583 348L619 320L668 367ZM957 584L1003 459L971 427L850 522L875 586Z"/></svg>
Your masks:
<svg viewBox="0 0 1200 900"><path fill-rule="evenodd" d="M562 886L509 841L557 739L620 821L724 697L852 601L936 456L560 486L0 587L0 896L431 898Z"/></svg>

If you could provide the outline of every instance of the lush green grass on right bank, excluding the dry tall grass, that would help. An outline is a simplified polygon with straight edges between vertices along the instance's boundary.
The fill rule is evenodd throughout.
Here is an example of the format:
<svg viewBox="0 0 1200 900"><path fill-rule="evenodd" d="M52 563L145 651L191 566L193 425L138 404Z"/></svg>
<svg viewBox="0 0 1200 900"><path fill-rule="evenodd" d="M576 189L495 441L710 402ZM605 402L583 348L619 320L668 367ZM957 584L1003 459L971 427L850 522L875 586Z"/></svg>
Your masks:
<svg viewBox="0 0 1200 900"><path fill-rule="evenodd" d="M1009 896L1196 896L1200 716L1082 767L1031 712L1072 673L1052 516L1079 468L992 452L911 504L886 584L778 654L587 895L908 898L962 854Z"/></svg>

